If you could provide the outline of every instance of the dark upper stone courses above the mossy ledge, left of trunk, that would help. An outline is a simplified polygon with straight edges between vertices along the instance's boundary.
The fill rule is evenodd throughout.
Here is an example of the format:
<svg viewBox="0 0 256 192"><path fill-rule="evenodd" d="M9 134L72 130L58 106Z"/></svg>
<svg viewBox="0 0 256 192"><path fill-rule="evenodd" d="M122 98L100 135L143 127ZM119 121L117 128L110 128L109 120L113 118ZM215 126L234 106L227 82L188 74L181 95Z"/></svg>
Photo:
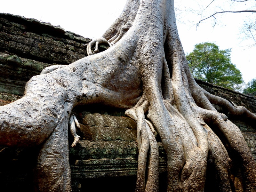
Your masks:
<svg viewBox="0 0 256 192"><path fill-rule="evenodd" d="M83 44L89 43L89 38L35 19L5 13L0 13L0 17L2 52L8 51L19 57L50 64L70 64L87 56ZM66 45L73 48L67 49Z"/></svg>

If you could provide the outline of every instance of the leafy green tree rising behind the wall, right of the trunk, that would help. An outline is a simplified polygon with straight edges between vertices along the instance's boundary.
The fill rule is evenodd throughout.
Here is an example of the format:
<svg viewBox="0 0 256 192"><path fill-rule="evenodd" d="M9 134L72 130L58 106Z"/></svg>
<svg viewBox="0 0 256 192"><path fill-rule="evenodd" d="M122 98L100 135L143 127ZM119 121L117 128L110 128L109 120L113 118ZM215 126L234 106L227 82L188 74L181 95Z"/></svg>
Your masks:
<svg viewBox="0 0 256 192"><path fill-rule="evenodd" d="M242 73L230 60L230 49L219 50L214 43L195 45L186 58L192 75L208 83L232 90L241 90Z"/></svg>

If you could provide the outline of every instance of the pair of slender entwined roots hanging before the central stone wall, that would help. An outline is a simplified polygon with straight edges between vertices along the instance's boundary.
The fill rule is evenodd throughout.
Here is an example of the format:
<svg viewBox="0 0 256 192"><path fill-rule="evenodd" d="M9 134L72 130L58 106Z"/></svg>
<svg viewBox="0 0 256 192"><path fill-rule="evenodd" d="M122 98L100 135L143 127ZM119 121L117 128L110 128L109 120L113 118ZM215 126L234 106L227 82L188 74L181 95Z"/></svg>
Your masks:
<svg viewBox="0 0 256 192"><path fill-rule="evenodd" d="M140 103L140 101L138 102ZM137 104L138 104L137 103ZM143 102L139 107L128 109L126 116L137 122L137 142L139 148L138 173L135 191L155 192L158 191L158 146L156 143L153 125L145 119L145 111L148 109L148 102ZM146 165L148 158L148 174L146 177Z"/></svg>

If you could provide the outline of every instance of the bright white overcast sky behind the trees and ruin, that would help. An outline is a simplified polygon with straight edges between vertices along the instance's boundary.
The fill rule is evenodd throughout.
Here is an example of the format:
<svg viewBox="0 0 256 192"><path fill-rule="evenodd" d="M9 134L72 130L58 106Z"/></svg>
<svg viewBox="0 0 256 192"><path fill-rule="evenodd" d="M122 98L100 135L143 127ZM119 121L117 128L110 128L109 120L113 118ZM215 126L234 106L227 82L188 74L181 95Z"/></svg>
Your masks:
<svg viewBox="0 0 256 192"><path fill-rule="evenodd" d="M202 17L197 11L204 10L212 0L174 0L179 11L177 19L179 35L185 53L192 52L194 45L213 42L220 49L231 48L231 61L242 72L248 83L256 78L256 47L248 47L253 42L242 41L239 28L244 20L256 19L256 13L225 13L216 15L214 21L204 21L196 30L195 24ZM0 12L34 18L52 25L60 25L84 37L98 38L122 12L126 0L5 0L0 4ZM204 15L215 11L256 9L256 1L231 3L231 0L215 0Z"/></svg>

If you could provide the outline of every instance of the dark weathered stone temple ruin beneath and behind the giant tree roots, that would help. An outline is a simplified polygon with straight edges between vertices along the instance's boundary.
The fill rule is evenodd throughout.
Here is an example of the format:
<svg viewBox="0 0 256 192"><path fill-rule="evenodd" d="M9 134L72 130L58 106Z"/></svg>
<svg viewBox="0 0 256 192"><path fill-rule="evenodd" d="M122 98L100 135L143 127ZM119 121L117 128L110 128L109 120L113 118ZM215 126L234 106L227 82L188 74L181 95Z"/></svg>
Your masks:
<svg viewBox="0 0 256 192"><path fill-rule="evenodd" d="M0 106L22 97L26 82L50 65L68 65L85 56L91 41L59 26L11 14L0 14ZM104 47L100 49L104 50ZM244 95L200 80L208 92L244 106L256 113L256 97ZM221 106L215 106L225 112ZM72 191L134 191L138 166L137 125L124 116L123 109L100 105L76 107L81 140L69 150ZM226 113L227 114L227 113ZM246 117L228 118L242 134L256 160L256 126ZM246 122L246 123L245 123ZM166 157L159 147L160 191L166 188ZM72 141L70 141L72 143ZM39 146L40 147L40 146ZM0 183L8 191L34 191L33 168L39 147L8 148L0 146ZM210 161L210 160L209 160ZM211 165L211 162L208 162ZM239 164L239 161L235 162ZM211 166L207 169L211 169ZM239 170L237 175L239 176ZM234 178L234 180L239 177ZM214 176L207 175L207 182ZM205 191L215 191L214 188ZM239 186L237 186L239 191Z"/></svg>

